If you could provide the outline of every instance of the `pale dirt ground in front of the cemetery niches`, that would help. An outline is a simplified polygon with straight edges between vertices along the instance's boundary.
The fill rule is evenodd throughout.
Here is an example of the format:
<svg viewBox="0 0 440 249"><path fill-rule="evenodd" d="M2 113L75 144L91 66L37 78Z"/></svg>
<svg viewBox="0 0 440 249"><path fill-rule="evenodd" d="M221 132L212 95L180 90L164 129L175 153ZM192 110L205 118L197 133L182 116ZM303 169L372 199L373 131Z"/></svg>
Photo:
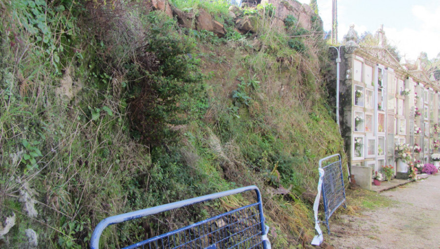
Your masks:
<svg viewBox="0 0 440 249"><path fill-rule="evenodd" d="M330 218L324 242L336 249L440 249L440 174L380 195L396 204Z"/></svg>

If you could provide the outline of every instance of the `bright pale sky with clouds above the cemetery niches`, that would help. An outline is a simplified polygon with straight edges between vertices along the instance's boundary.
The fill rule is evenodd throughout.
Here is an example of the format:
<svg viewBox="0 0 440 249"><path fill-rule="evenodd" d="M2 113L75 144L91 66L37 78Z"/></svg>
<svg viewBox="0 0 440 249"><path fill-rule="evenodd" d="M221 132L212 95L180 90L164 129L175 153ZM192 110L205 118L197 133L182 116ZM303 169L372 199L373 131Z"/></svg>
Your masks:
<svg viewBox="0 0 440 249"><path fill-rule="evenodd" d="M310 3L310 0L298 0ZM332 0L317 0L324 30L331 30ZM338 0L338 40L350 25L358 36L375 34L381 24L391 45L396 45L401 62L416 60L420 52L429 59L440 53L440 0Z"/></svg>

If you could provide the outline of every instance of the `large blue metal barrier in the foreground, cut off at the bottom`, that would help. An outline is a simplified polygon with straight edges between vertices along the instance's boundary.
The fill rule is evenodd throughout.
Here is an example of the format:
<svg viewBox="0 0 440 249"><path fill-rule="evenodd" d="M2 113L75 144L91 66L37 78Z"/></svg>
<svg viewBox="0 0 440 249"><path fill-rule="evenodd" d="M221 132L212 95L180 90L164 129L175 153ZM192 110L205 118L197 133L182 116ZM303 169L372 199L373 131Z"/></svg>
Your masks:
<svg viewBox="0 0 440 249"><path fill-rule="evenodd" d="M112 224L251 190L254 190L257 194L256 203L222 213L184 228L163 233L128 246L126 249L270 249L270 243L267 239L268 228L264 226L263 203L260 190L257 186L248 186L235 190L208 194L153 208L108 217L102 220L93 231L90 240L90 248L99 248L99 238L101 233L105 228Z"/></svg>

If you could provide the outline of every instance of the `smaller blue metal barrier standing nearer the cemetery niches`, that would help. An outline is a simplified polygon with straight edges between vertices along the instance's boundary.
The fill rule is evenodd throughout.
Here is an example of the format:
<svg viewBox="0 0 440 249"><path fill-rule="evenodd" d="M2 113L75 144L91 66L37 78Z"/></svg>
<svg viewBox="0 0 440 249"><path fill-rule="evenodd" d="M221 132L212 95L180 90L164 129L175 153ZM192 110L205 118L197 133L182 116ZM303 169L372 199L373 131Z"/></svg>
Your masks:
<svg viewBox="0 0 440 249"><path fill-rule="evenodd" d="M326 166L322 166L324 161L329 161L338 157L337 161L331 162ZM334 159L333 159L334 160ZM330 234L329 219L336 209L344 204L344 208L347 209L345 204L345 188L344 188L344 176L342 174L342 161L340 154L330 155L328 157L319 160L319 168L324 170L324 177L322 181L322 198L324 202L324 212L326 214L327 232Z"/></svg>

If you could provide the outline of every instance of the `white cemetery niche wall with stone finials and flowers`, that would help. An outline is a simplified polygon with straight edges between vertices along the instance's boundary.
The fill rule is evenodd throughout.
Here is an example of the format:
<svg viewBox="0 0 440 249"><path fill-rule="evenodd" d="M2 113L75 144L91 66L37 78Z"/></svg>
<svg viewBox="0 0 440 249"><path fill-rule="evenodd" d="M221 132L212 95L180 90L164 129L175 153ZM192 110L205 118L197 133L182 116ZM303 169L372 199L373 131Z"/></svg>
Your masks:
<svg viewBox="0 0 440 249"><path fill-rule="evenodd" d="M385 166L393 168L393 178L414 177L412 165L434 163L431 154L440 147L439 82L420 63L417 70L401 65L387 51L383 30L378 33L377 46L359 45L352 26L338 48L340 130L350 170L361 182L373 182ZM337 51L329 53L336 68ZM336 70L330 77L335 91ZM336 106L335 98L330 101ZM371 189L371 183L361 187Z"/></svg>

